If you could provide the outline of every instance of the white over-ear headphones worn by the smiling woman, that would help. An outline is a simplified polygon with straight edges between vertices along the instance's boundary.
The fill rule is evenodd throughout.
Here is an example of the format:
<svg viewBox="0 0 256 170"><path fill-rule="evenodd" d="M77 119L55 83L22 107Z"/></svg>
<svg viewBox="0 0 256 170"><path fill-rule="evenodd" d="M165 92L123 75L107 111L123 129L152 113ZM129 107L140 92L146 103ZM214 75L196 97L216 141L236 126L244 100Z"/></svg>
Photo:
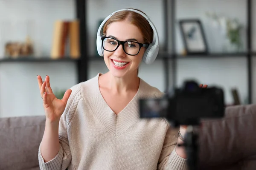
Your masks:
<svg viewBox="0 0 256 170"><path fill-rule="evenodd" d="M102 41L101 41L101 37L102 37L102 29L104 24L107 22L107 20L116 12L119 11L125 11L125 10L130 10L130 11L134 11L137 12L138 14L141 14L150 24L151 28L153 29L153 41L151 44L148 45L148 48L145 50L145 53L143 55L143 62L145 62L146 64L152 64L154 62L154 60L157 58L157 54L159 51L159 38L158 38L158 33L157 33L157 29L154 26L154 24L151 22L151 20L142 12L134 10L134 9L121 9L118 11L113 12L112 14L110 14L108 17L105 18L105 20L103 20L103 22L101 23L101 25L99 26L98 32L97 32L97 40L96 40L96 44L97 44L97 51L99 53L100 56L103 57L103 48L102 48Z"/></svg>

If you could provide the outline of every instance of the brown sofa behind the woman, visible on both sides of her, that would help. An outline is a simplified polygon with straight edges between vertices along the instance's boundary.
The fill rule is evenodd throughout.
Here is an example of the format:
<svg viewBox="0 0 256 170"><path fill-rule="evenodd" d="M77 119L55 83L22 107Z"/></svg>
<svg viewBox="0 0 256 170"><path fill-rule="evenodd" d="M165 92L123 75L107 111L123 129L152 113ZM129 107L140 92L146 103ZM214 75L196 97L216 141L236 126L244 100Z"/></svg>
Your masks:
<svg viewBox="0 0 256 170"><path fill-rule="evenodd" d="M256 170L256 105L230 106L198 130L200 170ZM45 116L0 118L0 170L39 170Z"/></svg>

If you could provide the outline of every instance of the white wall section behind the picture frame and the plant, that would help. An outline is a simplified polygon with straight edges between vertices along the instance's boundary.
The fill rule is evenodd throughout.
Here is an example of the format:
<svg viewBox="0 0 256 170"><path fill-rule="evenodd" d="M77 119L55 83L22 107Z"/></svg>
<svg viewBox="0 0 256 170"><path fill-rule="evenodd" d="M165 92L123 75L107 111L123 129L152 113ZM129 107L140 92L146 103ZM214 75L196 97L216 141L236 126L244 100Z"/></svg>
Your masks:
<svg viewBox="0 0 256 170"><path fill-rule="evenodd" d="M230 18L237 18L243 26L247 26L247 3L245 0L176 0L176 19L199 18L203 24L206 34L209 51L223 52L222 43L224 40L220 29L212 25L211 20L206 16L206 12L215 12ZM239 12L236 12L239 11ZM176 27L177 51L183 48L180 29ZM246 28L242 31L242 41L246 45Z"/></svg>

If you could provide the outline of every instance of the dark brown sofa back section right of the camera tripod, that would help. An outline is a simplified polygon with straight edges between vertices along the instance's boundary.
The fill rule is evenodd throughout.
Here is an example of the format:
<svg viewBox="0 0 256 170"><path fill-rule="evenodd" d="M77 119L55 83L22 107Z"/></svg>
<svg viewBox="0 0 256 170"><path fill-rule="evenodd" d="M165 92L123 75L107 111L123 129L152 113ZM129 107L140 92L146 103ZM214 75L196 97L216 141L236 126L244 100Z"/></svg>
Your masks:
<svg viewBox="0 0 256 170"><path fill-rule="evenodd" d="M256 105L230 106L222 119L204 120L199 133L202 169L242 168L256 155ZM228 169L228 168L226 168Z"/></svg>

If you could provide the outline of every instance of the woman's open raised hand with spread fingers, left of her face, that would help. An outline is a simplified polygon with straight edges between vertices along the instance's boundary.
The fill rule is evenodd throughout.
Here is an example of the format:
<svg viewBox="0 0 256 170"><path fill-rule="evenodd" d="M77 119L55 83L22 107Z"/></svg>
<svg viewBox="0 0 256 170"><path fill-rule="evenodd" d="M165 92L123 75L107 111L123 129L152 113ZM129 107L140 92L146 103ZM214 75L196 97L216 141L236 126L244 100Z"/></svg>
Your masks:
<svg viewBox="0 0 256 170"><path fill-rule="evenodd" d="M59 122L60 117L67 105L67 100L69 99L72 91L68 89L65 92L62 99L57 99L57 97L52 92L49 76L45 77L44 82L42 81L42 78L40 75L37 76L37 79L38 79L40 94L43 99L46 119L49 122Z"/></svg>

